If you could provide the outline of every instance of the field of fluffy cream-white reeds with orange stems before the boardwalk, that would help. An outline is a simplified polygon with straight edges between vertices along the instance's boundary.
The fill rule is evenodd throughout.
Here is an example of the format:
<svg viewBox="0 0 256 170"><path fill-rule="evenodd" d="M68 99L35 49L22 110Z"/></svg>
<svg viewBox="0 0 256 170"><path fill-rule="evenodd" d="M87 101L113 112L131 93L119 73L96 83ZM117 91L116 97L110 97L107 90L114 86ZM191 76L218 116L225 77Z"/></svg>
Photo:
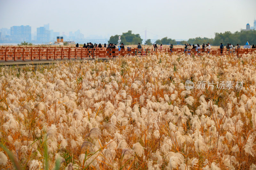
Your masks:
<svg viewBox="0 0 256 170"><path fill-rule="evenodd" d="M157 54L1 66L0 169L256 169L255 63Z"/></svg>

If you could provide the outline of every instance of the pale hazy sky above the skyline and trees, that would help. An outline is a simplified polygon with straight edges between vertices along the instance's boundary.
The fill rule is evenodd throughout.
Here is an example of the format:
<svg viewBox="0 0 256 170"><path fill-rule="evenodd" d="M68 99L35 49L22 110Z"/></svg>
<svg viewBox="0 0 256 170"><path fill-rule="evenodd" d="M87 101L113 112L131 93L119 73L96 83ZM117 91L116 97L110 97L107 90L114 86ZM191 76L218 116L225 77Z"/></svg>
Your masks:
<svg viewBox="0 0 256 170"><path fill-rule="evenodd" d="M80 29L84 37L122 34L128 30L144 38L214 38L214 33L253 26L256 0L0 0L0 28L50 23L55 32ZM154 33L154 34L152 34Z"/></svg>

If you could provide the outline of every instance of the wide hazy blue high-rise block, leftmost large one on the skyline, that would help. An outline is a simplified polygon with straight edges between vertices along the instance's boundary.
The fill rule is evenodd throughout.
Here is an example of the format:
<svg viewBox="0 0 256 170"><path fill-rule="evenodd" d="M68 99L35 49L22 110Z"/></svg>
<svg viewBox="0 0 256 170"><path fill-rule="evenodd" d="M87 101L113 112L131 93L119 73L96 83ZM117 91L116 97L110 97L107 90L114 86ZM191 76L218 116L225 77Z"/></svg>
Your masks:
<svg viewBox="0 0 256 170"><path fill-rule="evenodd" d="M31 26L12 26L11 39L14 41L31 41Z"/></svg>

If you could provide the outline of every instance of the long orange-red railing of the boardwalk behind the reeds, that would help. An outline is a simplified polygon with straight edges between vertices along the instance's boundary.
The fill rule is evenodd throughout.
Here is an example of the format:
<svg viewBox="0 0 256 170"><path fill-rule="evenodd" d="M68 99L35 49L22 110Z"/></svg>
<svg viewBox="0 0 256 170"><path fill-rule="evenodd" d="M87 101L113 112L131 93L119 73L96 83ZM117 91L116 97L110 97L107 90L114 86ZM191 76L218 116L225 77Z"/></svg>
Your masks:
<svg viewBox="0 0 256 170"><path fill-rule="evenodd" d="M52 48L52 47L0 47L0 61L33 61L33 60L63 60L84 58L113 58L126 55L146 56L154 54L197 54L203 55L241 55L255 51L256 49L184 49L184 48Z"/></svg>

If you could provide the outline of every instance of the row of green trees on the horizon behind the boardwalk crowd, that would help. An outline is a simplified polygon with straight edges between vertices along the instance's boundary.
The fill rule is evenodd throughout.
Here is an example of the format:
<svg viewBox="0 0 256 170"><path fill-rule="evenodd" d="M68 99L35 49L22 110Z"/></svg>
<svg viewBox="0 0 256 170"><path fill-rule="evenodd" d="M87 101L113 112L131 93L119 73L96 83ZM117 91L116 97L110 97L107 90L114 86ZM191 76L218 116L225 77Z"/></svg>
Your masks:
<svg viewBox="0 0 256 170"><path fill-rule="evenodd" d="M108 43L117 43L118 41L118 35L111 36L109 38ZM190 38L188 41L180 41L181 45L184 45L186 43L188 44L206 44L210 43L212 45L220 45L220 43L223 44L240 44L245 45L246 42L249 42L250 44L256 44L256 30L249 30L249 31L236 31L235 33L231 33L230 31L226 31L225 33L215 33L215 37L213 38ZM140 38L140 34L133 34L132 31L128 31L127 33L123 33L121 35L121 42L125 45L131 45L131 44L138 44L138 42L142 43L142 39ZM156 44L163 44L163 45L176 45L177 42L174 39L164 37L162 39L156 40ZM145 41L145 45L152 45L152 42L150 39Z"/></svg>

